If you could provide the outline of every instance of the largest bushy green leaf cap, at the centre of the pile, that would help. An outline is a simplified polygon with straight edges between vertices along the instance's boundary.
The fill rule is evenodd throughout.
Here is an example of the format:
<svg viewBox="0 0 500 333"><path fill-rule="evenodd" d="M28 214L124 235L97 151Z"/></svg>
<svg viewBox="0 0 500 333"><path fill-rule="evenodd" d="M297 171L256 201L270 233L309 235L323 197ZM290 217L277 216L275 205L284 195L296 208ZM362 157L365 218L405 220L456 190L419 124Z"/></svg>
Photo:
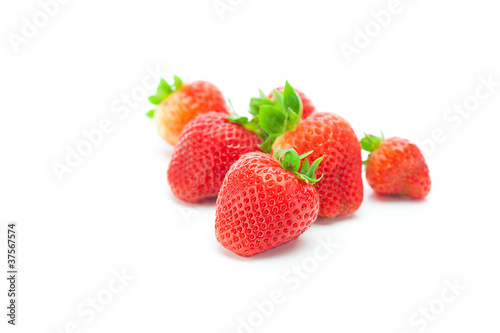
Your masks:
<svg viewBox="0 0 500 333"><path fill-rule="evenodd" d="M263 141L259 147L265 153L271 153L276 138L294 130L302 119L302 100L288 81L282 92L275 89L273 94L274 100L267 98L262 91L260 97L251 99L251 120L237 115L228 118L256 133Z"/></svg>

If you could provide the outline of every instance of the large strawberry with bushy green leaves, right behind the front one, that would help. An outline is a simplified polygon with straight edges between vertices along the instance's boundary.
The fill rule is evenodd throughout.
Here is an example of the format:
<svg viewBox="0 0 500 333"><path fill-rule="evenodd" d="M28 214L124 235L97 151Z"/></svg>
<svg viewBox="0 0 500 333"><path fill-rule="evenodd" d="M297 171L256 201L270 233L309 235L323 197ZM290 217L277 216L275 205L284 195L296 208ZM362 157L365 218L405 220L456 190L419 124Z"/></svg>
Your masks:
<svg viewBox="0 0 500 333"><path fill-rule="evenodd" d="M363 201L362 161L359 141L349 123L324 112L314 112L301 121L302 100L288 82L283 94L275 90L274 96L276 103L254 103L256 108L251 110L255 117L249 124L260 130L262 150L293 148L299 154L314 150L307 157L309 162L324 156L318 168L323 180L315 185L319 216L355 212Z"/></svg>

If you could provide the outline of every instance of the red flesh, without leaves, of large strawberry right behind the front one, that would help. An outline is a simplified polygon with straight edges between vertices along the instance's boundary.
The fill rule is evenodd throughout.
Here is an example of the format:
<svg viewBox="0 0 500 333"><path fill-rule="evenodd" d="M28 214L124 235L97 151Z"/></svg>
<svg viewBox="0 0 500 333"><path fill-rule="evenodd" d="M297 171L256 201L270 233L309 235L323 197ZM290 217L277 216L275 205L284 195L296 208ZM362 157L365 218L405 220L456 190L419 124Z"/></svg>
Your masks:
<svg viewBox="0 0 500 333"><path fill-rule="evenodd" d="M273 149L286 148L299 154L314 150L310 161L325 157L318 168L323 179L315 185L320 216L346 215L359 208L363 201L361 147L347 121L333 113L316 112L273 144Z"/></svg>

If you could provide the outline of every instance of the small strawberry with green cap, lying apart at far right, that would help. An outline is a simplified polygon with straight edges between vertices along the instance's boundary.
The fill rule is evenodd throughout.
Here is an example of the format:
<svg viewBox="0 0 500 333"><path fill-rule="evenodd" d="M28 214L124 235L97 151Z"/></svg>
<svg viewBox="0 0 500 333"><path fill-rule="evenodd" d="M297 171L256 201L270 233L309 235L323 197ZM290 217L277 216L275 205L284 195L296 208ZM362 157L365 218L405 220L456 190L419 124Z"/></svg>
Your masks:
<svg viewBox="0 0 500 333"><path fill-rule="evenodd" d="M406 139L366 135L361 147L370 152L366 180L379 194L423 199L431 190L429 168L420 149Z"/></svg>

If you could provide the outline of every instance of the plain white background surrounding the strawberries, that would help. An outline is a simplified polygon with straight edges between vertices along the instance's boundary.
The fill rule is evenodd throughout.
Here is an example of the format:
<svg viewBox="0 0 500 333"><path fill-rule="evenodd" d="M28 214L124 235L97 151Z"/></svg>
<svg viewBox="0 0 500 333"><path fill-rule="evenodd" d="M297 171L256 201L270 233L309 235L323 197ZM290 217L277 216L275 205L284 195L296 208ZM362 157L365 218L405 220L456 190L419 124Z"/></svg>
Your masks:
<svg viewBox="0 0 500 333"><path fill-rule="evenodd" d="M469 117L443 118L474 95L480 76L500 81L498 4L401 0L348 63L341 43L353 44L356 27L389 1L232 3L222 20L212 0L72 0L16 52L8 36L21 35L23 17L32 21L40 5L1 2L2 271L8 221L18 222L20 256L12 331L64 332L74 321L77 332L236 332L238 318L259 319L254 302L278 289L284 303L241 332L412 333L423 327L410 323L415 311L439 308L445 281L457 279L467 289L421 331L498 332L500 87ZM123 119L113 112L147 67L211 81L240 112L258 88L289 80L358 137L380 129L424 142L441 128L445 138L427 154L431 193L384 199L366 186L354 215L237 257L215 240L213 202L186 205L171 194L173 148L144 116L146 99ZM113 131L59 181L52 163L65 163L66 147L105 118ZM328 237L338 248L291 290L283 275L311 263ZM86 322L77 309L104 297L122 269L134 279Z"/></svg>

